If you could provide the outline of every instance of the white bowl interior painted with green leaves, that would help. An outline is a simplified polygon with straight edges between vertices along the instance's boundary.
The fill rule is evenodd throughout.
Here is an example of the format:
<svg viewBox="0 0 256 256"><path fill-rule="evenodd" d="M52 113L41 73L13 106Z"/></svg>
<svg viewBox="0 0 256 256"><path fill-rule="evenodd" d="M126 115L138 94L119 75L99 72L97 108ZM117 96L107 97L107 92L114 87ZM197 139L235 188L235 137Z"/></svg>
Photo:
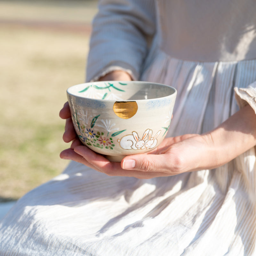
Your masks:
<svg viewBox="0 0 256 256"><path fill-rule="evenodd" d="M139 81L104 81L74 85L67 90L68 94L101 100L147 100L166 97L175 89L157 83Z"/></svg>

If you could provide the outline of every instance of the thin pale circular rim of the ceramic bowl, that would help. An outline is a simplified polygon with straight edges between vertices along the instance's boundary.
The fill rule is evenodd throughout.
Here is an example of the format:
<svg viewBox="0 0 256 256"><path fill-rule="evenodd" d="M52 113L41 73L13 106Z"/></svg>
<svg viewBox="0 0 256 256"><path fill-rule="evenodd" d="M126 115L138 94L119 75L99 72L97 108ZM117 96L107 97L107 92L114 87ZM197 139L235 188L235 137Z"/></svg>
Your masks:
<svg viewBox="0 0 256 256"><path fill-rule="evenodd" d="M167 96L164 96L164 97L158 97L158 98L153 98L153 99L141 99L141 100L108 100L108 99L93 99L93 98L88 98L88 97L84 97L84 96L78 96L76 94L73 94L71 92L69 92L69 89L74 87L74 86L78 86L78 85L86 85L86 84L92 84L92 83L110 83L110 82L120 82L120 83L139 83L139 84L145 84L145 83L148 83L148 84L157 84L157 85L161 85L161 86L164 86L164 87L168 87L168 88L171 88L172 90L174 90L174 92L172 94L169 94ZM78 97L78 98L81 98L81 99L88 99L88 100L96 100L96 101L100 101L100 102L129 102L129 101L139 101L139 102L142 102L142 101L148 101L148 100L159 100L159 99L164 99L164 98L168 98L168 97L176 97L177 95L177 90L170 86L170 85L167 85L167 84L161 84L161 83L155 83L155 82L148 82L148 81L121 81L121 80L108 80L108 81L94 81L94 82L86 82L86 83L81 83L81 84L75 84L75 85L72 85L70 87L68 87L67 89L67 94L68 95L71 95L71 96L74 96L74 97Z"/></svg>

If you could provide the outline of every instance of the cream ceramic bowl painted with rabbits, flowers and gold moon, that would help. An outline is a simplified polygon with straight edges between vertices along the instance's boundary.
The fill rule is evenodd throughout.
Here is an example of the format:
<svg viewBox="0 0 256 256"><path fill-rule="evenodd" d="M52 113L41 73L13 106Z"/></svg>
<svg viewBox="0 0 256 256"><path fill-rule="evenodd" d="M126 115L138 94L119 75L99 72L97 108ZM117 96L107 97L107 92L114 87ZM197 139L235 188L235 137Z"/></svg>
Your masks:
<svg viewBox="0 0 256 256"><path fill-rule="evenodd" d="M104 81L67 90L76 133L82 143L120 162L156 148L167 134L176 89L139 81Z"/></svg>

